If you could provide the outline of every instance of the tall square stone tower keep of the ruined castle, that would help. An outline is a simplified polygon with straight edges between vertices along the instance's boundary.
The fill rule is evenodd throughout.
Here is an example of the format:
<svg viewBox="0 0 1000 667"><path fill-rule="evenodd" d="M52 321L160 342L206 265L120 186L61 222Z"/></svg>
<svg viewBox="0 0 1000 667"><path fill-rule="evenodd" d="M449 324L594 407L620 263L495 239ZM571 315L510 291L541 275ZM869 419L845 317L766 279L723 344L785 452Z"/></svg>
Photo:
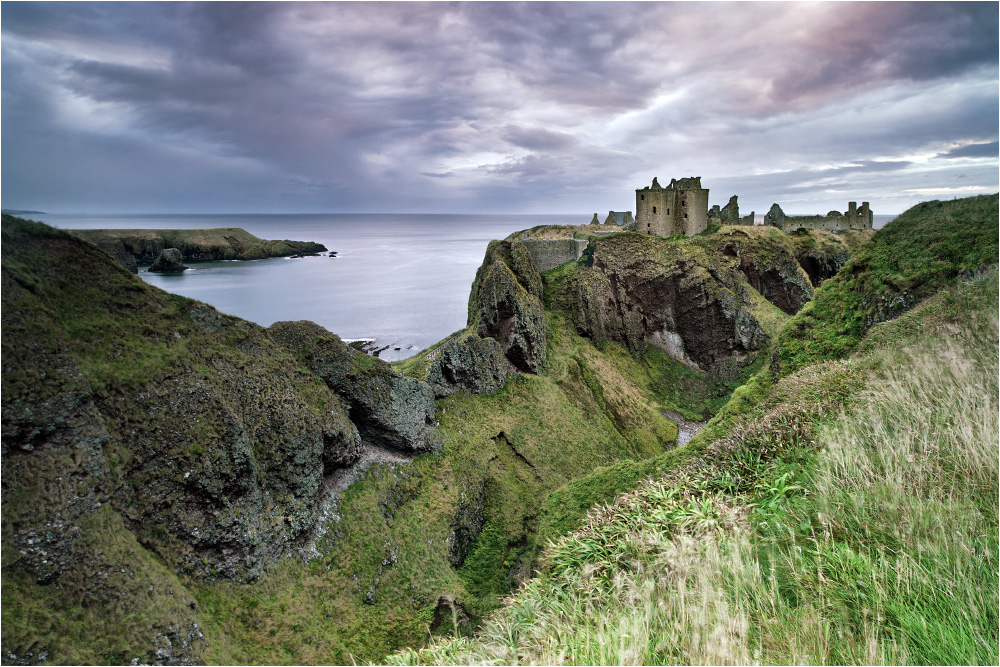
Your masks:
<svg viewBox="0 0 1000 667"><path fill-rule="evenodd" d="M671 179L635 191L636 231L651 236L694 236L708 226L708 190L701 176Z"/></svg>

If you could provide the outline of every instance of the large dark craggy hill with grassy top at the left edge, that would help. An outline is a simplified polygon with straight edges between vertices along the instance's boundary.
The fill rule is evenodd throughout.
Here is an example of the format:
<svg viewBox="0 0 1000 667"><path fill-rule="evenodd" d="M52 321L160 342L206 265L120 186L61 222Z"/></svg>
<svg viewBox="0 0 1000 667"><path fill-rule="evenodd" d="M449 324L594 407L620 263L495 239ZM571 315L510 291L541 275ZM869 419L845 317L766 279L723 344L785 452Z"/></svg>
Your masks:
<svg viewBox="0 0 1000 667"><path fill-rule="evenodd" d="M66 233L5 218L2 250L5 571L100 604L154 570L252 580L292 548L360 454L322 381Z"/></svg>

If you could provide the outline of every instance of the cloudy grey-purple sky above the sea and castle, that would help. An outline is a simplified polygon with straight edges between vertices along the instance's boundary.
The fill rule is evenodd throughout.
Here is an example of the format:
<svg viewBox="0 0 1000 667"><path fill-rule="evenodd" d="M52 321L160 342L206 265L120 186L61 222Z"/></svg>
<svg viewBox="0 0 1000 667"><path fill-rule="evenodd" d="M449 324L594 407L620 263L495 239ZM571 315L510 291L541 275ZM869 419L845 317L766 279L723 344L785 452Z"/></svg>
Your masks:
<svg viewBox="0 0 1000 667"><path fill-rule="evenodd" d="M741 213L998 186L998 3L0 4L0 196L50 213Z"/></svg>

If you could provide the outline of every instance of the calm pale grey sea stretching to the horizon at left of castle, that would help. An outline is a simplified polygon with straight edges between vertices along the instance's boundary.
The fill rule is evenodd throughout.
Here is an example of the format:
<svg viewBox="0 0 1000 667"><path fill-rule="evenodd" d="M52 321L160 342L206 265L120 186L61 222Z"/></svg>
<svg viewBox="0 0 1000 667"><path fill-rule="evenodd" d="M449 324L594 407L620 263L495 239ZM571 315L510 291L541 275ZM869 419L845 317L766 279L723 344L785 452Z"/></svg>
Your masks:
<svg viewBox="0 0 1000 667"><path fill-rule="evenodd" d="M404 359L465 326L469 289L491 239L579 215L32 215L63 229L242 227L264 239L318 241L337 257L189 264L139 275L169 292L269 326L312 320ZM395 348L399 348L396 350Z"/></svg>

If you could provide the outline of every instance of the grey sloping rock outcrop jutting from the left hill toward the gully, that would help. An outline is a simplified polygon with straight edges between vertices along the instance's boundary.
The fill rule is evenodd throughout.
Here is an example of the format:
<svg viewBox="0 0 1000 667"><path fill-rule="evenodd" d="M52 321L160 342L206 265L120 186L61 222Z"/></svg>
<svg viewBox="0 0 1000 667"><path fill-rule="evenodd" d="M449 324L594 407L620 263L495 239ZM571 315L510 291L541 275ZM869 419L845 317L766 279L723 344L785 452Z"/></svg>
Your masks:
<svg viewBox="0 0 1000 667"><path fill-rule="evenodd" d="M268 333L347 401L365 442L403 452L437 451L434 391L426 382L397 375L313 322L276 322Z"/></svg>

